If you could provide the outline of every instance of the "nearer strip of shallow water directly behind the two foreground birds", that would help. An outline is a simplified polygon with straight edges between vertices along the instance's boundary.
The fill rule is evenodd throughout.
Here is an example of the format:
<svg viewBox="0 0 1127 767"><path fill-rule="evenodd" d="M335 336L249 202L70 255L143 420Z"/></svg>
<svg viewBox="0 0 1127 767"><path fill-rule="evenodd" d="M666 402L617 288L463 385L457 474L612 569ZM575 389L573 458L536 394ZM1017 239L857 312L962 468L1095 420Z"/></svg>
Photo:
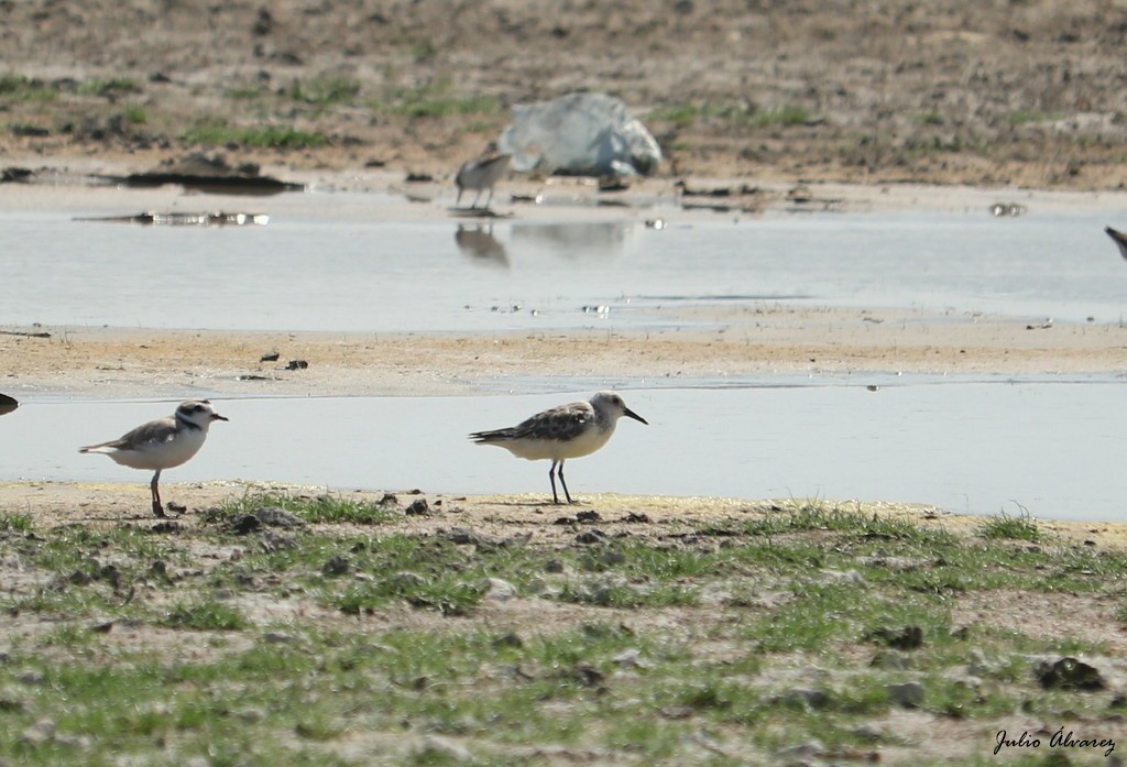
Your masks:
<svg viewBox="0 0 1127 767"><path fill-rule="evenodd" d="M473 398L218 401L231 418L166 481L284 480L329 488L549 493L548 464L471 444L587 392ZM948 383L642 389L598 453L567 464L573 494L831 498L960 512L1127 520L1118 464L1121 385ZM166 402L26 402L0 420L6 479L148 482L78 446L118 436ZM18 448L17 448L18 446Z"/></svg>

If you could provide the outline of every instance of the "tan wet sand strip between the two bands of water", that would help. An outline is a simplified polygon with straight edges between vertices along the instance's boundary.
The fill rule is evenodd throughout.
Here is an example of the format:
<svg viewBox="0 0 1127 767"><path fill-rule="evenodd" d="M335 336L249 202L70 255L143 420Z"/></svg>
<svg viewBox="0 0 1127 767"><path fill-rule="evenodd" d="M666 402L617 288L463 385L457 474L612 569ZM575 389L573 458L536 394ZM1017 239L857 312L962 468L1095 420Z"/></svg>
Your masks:
<svg viewBox="0 0 1127 767"><path fill-rule="evenodd" d="M480 335L0 328L3 391L95 399L464 394L511 377L1116 375L1127 327L912 310L682 310L686 327ZM690 321L692 324L690 324ZM701 329L698 323L715 323ZM42 337L46 333L47 337ZM277 353L273 362L263 357ZM304 360L303 369L286 369Z"/></svg>

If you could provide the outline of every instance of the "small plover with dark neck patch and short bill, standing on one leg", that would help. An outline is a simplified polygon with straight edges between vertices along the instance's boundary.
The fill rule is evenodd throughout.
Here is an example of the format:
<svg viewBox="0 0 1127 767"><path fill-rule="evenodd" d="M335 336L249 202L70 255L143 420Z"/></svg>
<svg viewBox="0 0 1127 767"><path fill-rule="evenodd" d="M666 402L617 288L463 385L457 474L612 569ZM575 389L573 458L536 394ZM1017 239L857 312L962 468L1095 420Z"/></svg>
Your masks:
<svg viewBox="0 0 1127 767"><path fill-rule="evenodd" d="M123 466L156 471L149 485L152 490L152 512L163 517L165 507L157 489L160 472L188 461L203 447L211 422L225 420L207 400L185 400L171 418L149 421L121 439L87 445L79 448L79 453L104 453Z"/></svg>

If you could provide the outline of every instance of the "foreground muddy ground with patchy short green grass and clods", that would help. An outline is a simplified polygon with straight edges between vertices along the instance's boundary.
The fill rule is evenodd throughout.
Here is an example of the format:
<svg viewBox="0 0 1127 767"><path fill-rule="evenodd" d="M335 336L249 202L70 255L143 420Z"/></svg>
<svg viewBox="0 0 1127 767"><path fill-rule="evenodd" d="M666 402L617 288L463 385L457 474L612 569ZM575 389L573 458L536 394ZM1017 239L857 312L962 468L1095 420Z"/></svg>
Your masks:
<svg viewBox="0 0 1127 767"><path fill-rule="evenodd" d="M230 524L261 506L317 524ZM441 514L418 533L399 506L251 493L160 533L0 516L0 761L453 758L428 735L469 764L593 748L774 764L815 738L885 760L914 744L891 724L889 685L908 680L924 730L965 720L985 755L1014 712L1122 707L1033 674L1042 655L1113 655L1118 623L1107 642L1059 621L1027 634L974 594L1127 622L1119 550L816 501L659 532L600 520L579 539L550 517L527 541L453 534L472 516Z"/></svg>

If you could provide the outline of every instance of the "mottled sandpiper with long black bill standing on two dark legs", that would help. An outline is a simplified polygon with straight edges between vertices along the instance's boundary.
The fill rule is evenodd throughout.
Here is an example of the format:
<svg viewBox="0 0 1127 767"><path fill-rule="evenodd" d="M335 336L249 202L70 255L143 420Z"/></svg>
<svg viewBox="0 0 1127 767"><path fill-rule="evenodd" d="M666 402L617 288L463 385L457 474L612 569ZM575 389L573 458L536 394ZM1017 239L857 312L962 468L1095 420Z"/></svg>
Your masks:
<svg viewBox="0 0 1127 767"><path fill-rule="evenodd" d="M548 479L552 483L552 501L560 502L556 494L558 473L560 484L564 485L564 497L568 503L574 503L567 491L567 482L564 481L564 462L591 455L605 445L623 416L649 426L649 421L630 410L621 396L614 392L598 392L589 402L561 404L508 429L474 431L470 439L478 445L498 445L518 458L551 458Z"/></svg>

